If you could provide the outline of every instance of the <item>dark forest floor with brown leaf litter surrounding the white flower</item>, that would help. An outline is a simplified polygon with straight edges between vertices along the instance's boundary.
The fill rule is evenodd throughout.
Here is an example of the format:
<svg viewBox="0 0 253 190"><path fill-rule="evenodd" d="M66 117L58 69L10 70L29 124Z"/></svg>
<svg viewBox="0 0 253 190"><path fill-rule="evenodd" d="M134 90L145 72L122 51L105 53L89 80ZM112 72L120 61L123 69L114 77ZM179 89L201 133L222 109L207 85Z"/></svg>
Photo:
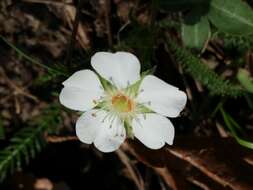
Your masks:
<svg viewBox="0 0 253 190"><path fill-rule="evenodd" d="M152 6L138 0L86 0L79 5L72 0L1 0L0 149L46 109L60 110L56 114L61 122L47 123L52 125L43 133L47 145L28 163L23 155L22 169L9 172L0 189L253 189L252 150L239 145L224 129L221 114L211 116L223 99L209 99L205 87L182 76L164 39L150 32L152 22L167 18ZM179 35L176 29L168 33ZM187 91L187 107L181 117L172 119L173 146L150 150L137 140L128 140L115 153L102 154L75 137L78 114L58 101L61 83L67 78L61 72L69 76L90 68L90 57L109 49L136 53L145 62L144 69L157 66L157 76ZM210 42L200 58L223 77L230 77L235 69L226 64L233 51L227 55L217 40ZM251 73L252 55L247 51L243 57ZM224 107L252 136L253 115L245 98L226 98Z"/></svg>

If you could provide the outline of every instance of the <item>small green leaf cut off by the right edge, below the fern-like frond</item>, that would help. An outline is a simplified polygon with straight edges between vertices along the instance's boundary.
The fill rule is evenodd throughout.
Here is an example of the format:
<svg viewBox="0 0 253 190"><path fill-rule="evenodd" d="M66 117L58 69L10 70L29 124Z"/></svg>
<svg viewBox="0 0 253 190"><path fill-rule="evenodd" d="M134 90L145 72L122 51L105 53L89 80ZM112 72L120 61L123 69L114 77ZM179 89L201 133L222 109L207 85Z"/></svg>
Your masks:
<svg viewBox="0 0 253 190"><path fill-rule="evenodd" d="M239 69L237 79L247 91L253 93L253 79L249 76L249 72L247 70Z"/></svg>

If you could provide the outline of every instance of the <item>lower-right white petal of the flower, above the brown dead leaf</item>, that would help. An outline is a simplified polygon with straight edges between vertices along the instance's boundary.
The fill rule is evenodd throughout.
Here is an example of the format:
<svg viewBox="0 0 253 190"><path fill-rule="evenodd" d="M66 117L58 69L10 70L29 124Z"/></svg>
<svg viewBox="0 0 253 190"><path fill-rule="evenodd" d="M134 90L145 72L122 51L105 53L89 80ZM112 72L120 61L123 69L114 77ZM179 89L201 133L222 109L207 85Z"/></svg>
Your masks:
<svg viewBox="0 0 253 190"><path fill-rule="evenodd" d="M134 136L151 149L159 149L165 143L173 144L174 127L164 116L149 113L139 114L132 123Z"/></svg>

